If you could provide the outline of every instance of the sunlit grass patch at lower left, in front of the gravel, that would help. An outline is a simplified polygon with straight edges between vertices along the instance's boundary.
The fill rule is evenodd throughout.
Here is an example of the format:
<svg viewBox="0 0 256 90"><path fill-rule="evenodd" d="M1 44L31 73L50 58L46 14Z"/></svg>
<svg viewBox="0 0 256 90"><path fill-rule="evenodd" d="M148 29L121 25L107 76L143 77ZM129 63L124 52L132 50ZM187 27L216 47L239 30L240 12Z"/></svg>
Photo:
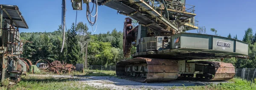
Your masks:
<svg viewBox="0 0 256 90"><path fill-rule="evenodd" d="M110 88L92 87L77 82L77 79L53 78L40 76L22 76L17 85L9 86L8 90L110 90ZM1 89L7 89L2 87Z"/></svg>

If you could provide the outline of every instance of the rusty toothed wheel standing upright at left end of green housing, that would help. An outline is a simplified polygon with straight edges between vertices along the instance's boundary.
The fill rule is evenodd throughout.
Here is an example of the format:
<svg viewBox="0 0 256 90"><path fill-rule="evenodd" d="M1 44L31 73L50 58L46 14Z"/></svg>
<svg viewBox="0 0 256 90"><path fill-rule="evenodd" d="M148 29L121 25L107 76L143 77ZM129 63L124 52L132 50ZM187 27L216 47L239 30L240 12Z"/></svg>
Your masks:
<svg viewBox="0 0 256 90"><path fill-rule="evenodd" d="M131 42L136 38L134 37L134 29L131 25L132 19L130 17L125 18L124 30L123 30L123 52L125 57L129 57L131 54Z"/></svg>

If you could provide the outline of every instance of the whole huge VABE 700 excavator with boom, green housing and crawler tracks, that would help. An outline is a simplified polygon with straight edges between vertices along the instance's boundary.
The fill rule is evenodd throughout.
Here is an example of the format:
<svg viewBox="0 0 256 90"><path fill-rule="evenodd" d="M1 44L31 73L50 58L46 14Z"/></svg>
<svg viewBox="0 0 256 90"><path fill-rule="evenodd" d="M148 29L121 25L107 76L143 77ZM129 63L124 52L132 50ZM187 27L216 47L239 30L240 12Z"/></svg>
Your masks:
<svg viewBox="0 0 256 90"><path fill-rule="evenodd" d="M82 0L71 0L81 10ZM186 0L83 0L117 10L125 18L123 53L133 59L116 64L116 75L137 82L175 79L223 81L235 76L231 63L202 59L247 58L248 43L207 34L186 33L198 29L195 6ZM97 9L97 7L96 7ZM97 13L97 10L96 10ZM97 17L97 15L95 15ZM139 25L133 26L132 19ZM197 59L197 60L195 60ZM199 59L199 60L198 60Z"/></svg>

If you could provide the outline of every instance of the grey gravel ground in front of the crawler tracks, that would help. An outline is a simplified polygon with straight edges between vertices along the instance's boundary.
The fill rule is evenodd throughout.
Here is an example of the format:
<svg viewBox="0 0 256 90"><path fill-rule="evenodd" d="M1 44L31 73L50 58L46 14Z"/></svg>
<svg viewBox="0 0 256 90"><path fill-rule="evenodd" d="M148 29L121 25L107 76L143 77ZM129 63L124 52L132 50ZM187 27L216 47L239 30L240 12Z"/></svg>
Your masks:
<svg viewBox="0 0 256 90"><path fill-rule="evenodd" d="M198 86L207 85L210 83L218 84L220 82L199 82L199 81L188 81L188 80L175 80L172 82L155 82L155 83L142 83L134 82L126 79L119 79L115 76L67 76L67 75L30 75L30 76L52 76L56 78L70 78L76 79L79 83L86 83L94 87L105 87L116 90L127 90L127 89L165 89L165 87L172 86ZM225 81L224 81L225 82Z"/></svg>

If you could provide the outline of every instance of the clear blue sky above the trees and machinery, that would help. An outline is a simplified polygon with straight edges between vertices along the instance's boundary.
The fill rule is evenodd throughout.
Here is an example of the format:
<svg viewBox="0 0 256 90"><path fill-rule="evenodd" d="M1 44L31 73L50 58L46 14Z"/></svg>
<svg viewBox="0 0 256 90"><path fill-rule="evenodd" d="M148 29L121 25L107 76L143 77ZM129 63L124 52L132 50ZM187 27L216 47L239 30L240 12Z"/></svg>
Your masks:
<svg viewBox="0 0 256 90"><path fill-rule="evenodd" d="M61 24L61 0L1 0L0 4L17 5L20 8L29 25L29 29L20 29L21 32L55 31ZM199 26L207 28L207 34L214 34L210 28L215 28L223 37L229 33L232 36L237 34L241 40L247 28L256 29L256 0L186 0L186 4L195 5L195 18ZM116 10L106 6L99 6L98 9L96 32L87 23L86 4L83 4L82 11L78 11L77 22L87 23L93 34L105 33L114 28L122 31L126 16L116 14ZM70 0L67 0L67 28L75 22L75 18L76 11L72 9ZM196 33L196 30L188 32Z"/></svg>

